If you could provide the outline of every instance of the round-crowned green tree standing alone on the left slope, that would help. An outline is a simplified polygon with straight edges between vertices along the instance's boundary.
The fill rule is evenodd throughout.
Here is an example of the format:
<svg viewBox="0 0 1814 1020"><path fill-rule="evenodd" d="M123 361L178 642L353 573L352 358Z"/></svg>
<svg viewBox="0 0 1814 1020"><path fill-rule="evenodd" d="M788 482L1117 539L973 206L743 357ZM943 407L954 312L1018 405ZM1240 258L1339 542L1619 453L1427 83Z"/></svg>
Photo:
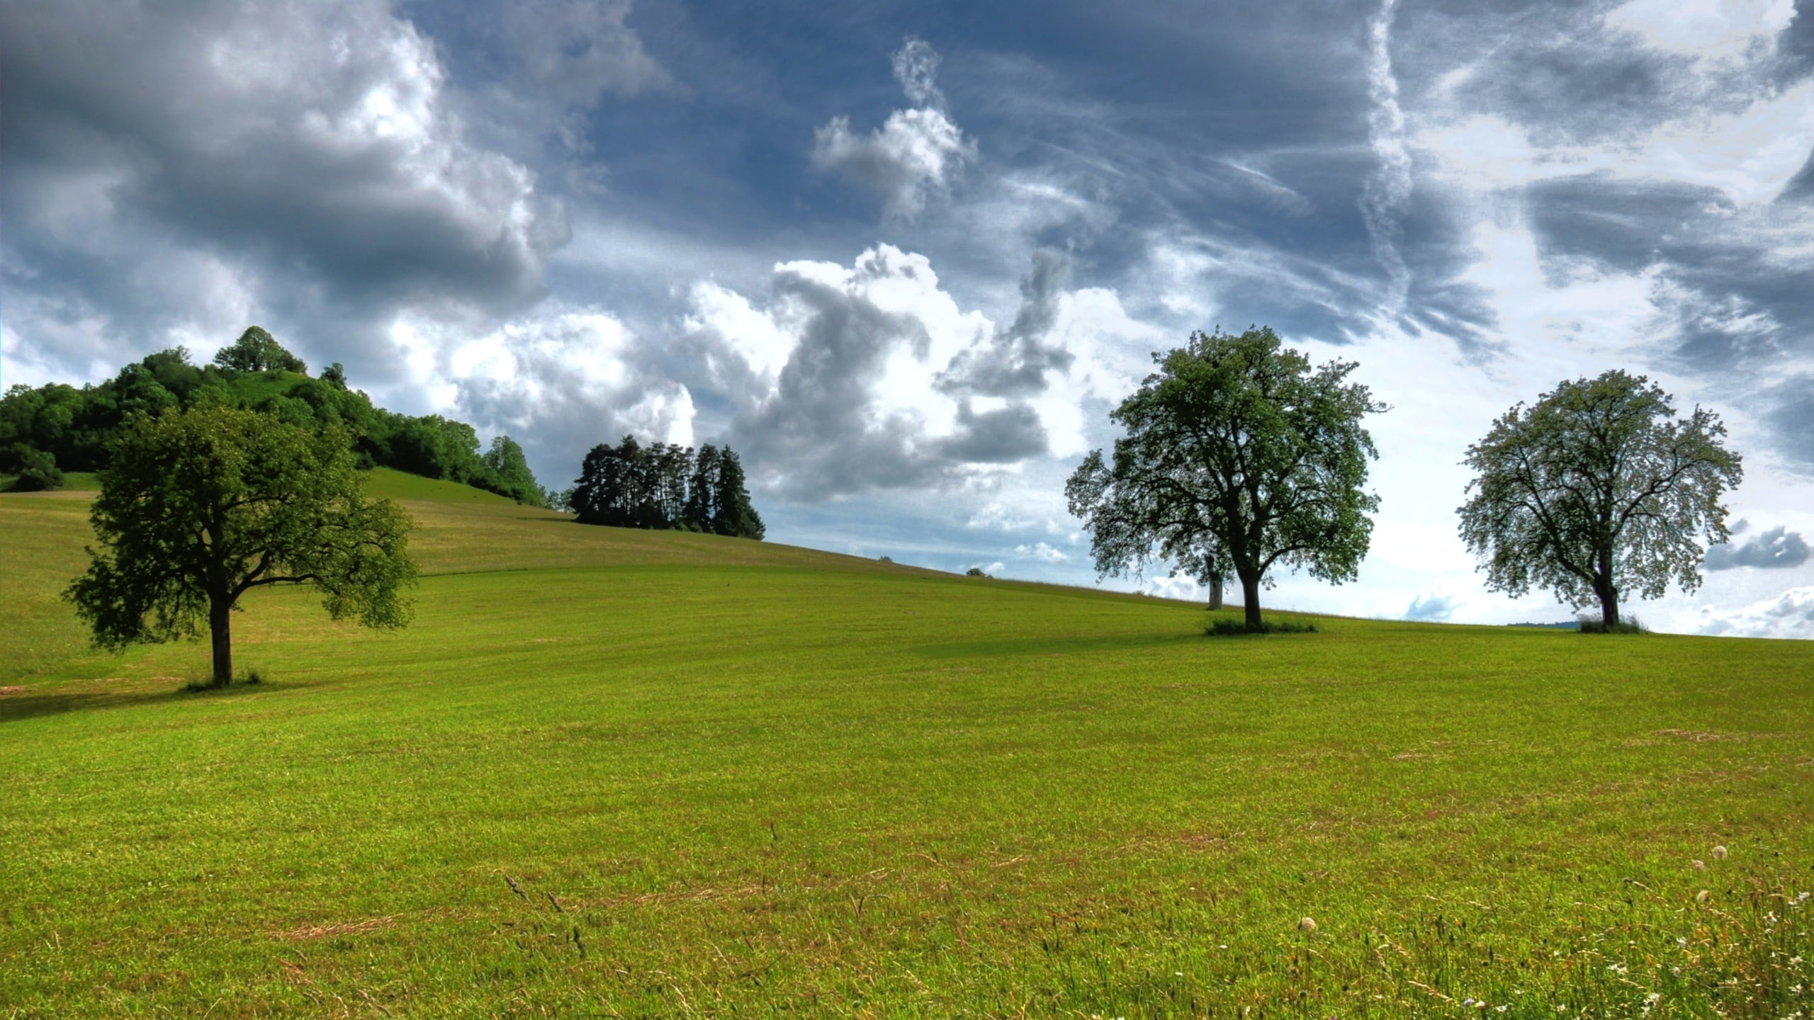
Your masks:
<svg viewBox="0 0 1814 1020"><path fill-rule="evenodd" d="M230 613L252 588L312 584L328 615L379 630L410 619L410 519L363 495L339 427L221 407L136 416L100 485L100 548L63 597L103 648L200 637L205 621L225 686Z"/></svg>

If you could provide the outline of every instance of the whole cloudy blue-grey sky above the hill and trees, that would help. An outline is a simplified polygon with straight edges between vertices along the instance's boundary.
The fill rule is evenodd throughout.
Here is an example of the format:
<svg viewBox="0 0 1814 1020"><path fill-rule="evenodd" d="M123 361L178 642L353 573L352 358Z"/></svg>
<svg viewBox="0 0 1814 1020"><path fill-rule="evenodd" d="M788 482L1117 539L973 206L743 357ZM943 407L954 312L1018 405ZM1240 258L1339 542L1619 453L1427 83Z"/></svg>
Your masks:
<svg viewBox="0 0 1814 1020"><path fill-rule="evenodd" d="M1457 535L1469 443L1625 368L1743 454L1671 632L1814 637L1814 0L0 0L0 383L247 325L544 485L742 456L769 539L1097 579L1063 481L1192 330L1390 410L1355 583L1562 621Z"/></svg>

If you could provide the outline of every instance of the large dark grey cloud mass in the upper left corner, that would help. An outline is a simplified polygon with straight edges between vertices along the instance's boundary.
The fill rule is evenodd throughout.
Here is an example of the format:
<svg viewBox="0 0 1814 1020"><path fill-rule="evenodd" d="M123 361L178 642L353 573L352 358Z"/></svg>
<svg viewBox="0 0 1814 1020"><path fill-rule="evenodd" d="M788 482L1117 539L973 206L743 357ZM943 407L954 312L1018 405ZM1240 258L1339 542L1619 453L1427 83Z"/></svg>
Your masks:
<svg viewBox="0 0 1814 1020"><path fill-rule="evenodd" d="M464 140L444 85L377 0L0 7L4 281L80 296L13 325L87 316L122 356L160 347L212 272L312 361L354 361L401 307L528 307L566 212ZM122 294L160 263L190 278Z"/></svg>

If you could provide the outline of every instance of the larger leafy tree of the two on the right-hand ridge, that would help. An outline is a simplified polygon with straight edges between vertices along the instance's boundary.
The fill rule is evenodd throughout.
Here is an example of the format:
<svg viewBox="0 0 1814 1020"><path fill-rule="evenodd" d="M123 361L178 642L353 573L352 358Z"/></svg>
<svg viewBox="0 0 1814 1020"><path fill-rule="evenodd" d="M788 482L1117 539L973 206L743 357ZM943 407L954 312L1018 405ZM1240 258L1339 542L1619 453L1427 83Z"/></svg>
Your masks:
<svg viewBox="0 0 1814 1020"><path fill-rule="evenodd" d="M1355 579L1379 508L1362 492L1379 454L1360 419L1386 410L1346 381L1355 365L1312 368L1272 329L1194 332L1154 361L1108 416L1126 430L1112 463L1094 450L1065 485L1096 570L1165 559L1210 584L1232 574L1250 630L1264 626L1259 590L1273 566Z"/></svg>

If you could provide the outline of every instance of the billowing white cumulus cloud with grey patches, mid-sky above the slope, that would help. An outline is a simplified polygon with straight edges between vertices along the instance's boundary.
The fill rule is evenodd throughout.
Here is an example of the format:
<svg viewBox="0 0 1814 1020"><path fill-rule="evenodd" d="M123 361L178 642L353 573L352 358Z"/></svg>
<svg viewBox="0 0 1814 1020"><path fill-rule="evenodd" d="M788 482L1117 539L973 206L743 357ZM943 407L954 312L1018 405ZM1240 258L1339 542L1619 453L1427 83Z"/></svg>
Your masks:
<svg viewBox="0 0 1814 1020"><path fill-rule="evenodd" d="M718 283L689 298L684 343L735 408L729 441L758 485L804 501L1074 456L1081 405L1125 392L1145 370L1126 339L1152 339L1112 290L1065 290L1050 256L1009 327L892 245L776 265L766 301Z"/></svg>

